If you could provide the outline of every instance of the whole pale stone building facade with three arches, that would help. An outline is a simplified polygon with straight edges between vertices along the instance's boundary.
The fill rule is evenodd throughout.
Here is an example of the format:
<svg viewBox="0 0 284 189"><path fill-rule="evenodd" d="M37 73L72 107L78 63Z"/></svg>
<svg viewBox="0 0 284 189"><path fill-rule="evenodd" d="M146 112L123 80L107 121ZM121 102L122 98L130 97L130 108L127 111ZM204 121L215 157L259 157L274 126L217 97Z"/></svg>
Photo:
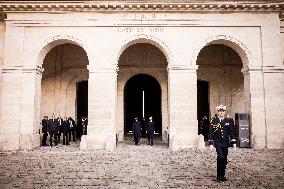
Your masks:
<svg viewBox="0 0 284 189"><path fill-rule="evenodd" d="M252 147L283 149L283 11L280 0L1 1L0 150L39 146L44 115L77 119L78 93L80 148L112 150L139 81L172 150L204 145L197 119L217 104L249 113Z"/></svg>

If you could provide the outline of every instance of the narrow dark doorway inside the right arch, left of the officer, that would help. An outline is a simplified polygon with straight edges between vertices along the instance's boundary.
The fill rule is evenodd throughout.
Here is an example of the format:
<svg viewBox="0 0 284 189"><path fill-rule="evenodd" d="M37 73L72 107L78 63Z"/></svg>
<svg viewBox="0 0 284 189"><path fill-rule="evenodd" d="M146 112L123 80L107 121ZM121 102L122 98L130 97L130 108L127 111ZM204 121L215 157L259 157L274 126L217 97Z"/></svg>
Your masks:
<svg viewBox="0 0 284 189"><path fill-rule="evenodd" d="M198 120L203 116L209 119L209 90L208 82L197 80L197 116Z"/></svg>

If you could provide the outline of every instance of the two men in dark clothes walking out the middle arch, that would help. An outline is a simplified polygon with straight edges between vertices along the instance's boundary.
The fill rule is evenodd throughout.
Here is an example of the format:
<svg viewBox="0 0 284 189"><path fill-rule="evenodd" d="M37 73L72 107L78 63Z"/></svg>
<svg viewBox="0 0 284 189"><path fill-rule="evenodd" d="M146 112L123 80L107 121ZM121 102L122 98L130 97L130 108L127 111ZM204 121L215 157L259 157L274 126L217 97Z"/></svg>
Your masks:
<svg viewBox="0 0 284 189"><path fill-rule="evenodd" d="M153 117L150 116L147 122L145 122L144 119L142 121L143 122L141 123L138 120L138 117L135 117L134 122L132 124L132 132L133 132L135 145L139 145L139 142L142 136L141 131L143 133L145 129L145 132L147 133L147 138L148 138L148 145L153 146L154 132L155 132L155 122L153 121Z"/></svg>

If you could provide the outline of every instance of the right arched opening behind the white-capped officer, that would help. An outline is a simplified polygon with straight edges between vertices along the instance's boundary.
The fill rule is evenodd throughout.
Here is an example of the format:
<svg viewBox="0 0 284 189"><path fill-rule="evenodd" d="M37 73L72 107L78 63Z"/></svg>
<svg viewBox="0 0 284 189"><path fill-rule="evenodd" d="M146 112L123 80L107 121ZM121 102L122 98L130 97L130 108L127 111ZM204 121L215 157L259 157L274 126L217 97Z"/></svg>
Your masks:
<svg viewBox="0 0 284 189"><path fill-rule="evenodd" d="M227 114L232 118L237 112L245 112L243 62L234 49L223 44L208 44L200 51L197 65L199 121L202 116L210 120L219 104L227 106ZM203 133L205 139L207 134Z"/></svg>

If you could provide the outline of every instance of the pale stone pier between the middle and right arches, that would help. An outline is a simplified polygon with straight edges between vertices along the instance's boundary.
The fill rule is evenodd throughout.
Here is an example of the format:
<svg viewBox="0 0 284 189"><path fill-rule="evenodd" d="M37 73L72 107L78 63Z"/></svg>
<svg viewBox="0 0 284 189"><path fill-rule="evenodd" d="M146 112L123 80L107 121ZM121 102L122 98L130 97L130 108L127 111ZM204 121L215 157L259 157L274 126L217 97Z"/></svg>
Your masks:
<svg viewBox="0 0 284 189"><path fill-rule="evenodd" d="M172 150L200 145L197 132L196 70L197 66L169 67L169 146Z"/></svg>

